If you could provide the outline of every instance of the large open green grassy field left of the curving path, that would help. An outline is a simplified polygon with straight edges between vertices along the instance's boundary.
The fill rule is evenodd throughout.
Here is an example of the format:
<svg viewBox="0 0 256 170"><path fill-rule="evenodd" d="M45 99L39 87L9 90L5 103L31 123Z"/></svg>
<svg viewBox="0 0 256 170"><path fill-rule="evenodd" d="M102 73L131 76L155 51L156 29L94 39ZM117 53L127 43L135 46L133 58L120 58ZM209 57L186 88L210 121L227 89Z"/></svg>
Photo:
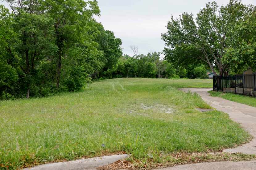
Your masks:
<svg viewBox="0 0 256 170"><path fill-rule="evenodd" d="M171 154L220 151L250 138L227 114L177 88L207 79L124 78L82 92L0 102L0 169L125 152L147 164ZM190 158L189 158L190 159ZM209 157L206 158L206 160Z"/></svg>

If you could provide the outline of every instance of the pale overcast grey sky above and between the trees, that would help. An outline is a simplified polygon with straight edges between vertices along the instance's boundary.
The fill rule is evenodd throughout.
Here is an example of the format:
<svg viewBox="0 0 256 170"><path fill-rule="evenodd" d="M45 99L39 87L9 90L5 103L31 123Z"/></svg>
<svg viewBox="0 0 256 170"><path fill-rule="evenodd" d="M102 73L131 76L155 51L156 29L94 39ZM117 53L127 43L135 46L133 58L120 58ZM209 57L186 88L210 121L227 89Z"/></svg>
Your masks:
<svg viewBox="0 0 256 170"><path fill-rule="evenodd" d="M161 34L171 15L178 18L183 12L196 15L210 0L98 0L101 17L96 17L105 30L111 30L122 39L124 54L133 55L130 45L138 46L140 54L162 52ZM210 1L211 2L211 1ZM221 6L229 0L216 0ZM0 2L2 3L2 2ZM256 0L242 0L256 5Z"/></svg>

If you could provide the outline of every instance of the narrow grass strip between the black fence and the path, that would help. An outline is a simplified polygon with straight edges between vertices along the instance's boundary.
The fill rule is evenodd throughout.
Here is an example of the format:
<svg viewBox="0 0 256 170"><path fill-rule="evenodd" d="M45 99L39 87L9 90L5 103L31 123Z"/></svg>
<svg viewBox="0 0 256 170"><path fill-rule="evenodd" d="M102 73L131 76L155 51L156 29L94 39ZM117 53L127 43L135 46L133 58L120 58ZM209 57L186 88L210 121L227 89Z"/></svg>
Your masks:
<svg viewBox="0 0 256 170"><path fill-rule="evenodd" d="M256 107L256 98L250 96L243 96L239 94L232 94L232 93L222 93L222 92L215 92L209 91L211 96L214 97L221 97L226 100L235 101L237 103L242 103L245 105Z"/></svg>

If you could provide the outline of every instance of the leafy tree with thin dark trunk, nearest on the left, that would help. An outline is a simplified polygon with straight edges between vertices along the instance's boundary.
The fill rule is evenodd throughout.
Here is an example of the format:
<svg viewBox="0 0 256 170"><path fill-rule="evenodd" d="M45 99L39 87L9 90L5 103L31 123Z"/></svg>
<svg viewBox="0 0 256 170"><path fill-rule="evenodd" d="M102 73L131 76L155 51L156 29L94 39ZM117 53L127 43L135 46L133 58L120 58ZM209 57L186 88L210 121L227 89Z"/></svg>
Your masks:
<svg viewBox="0 0 256 170"><path fill-rule="evenodd" d="M48 39L52 35L51 26L52 20L45 15L22 12L15 19L13 28L17 33L17 39L14 46L20 67L25 74L27 98L30 97L30 87L35 81L40 61L47 55L53 55L57 50L55 44Z"/></svg>

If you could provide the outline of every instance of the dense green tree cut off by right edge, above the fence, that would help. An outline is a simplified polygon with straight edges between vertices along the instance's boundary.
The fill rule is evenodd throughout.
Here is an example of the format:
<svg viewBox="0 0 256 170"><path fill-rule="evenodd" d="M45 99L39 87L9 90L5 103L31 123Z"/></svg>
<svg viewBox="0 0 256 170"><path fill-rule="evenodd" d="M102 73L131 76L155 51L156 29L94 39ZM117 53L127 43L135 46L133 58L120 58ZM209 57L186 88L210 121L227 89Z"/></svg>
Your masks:
<svg viewBox="0 0 256 170"><path fill-rule="evenodd" d="M226 49L224 61L239 72L248 67L256 71L256 9L234 28L233 46Z"/></svg>

